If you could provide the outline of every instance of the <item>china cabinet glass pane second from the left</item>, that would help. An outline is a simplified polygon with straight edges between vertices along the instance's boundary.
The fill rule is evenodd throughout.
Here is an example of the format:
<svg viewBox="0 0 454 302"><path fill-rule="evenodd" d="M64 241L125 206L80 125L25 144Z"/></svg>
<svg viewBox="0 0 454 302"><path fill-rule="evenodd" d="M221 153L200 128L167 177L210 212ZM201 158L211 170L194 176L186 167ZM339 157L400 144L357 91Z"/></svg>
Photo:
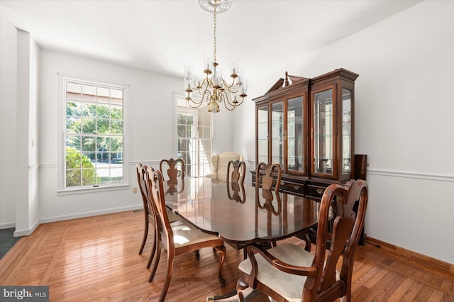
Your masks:
<svg viewBox="0 0 454 302"><path fill-rule="evenodd" d="M284 167L284 138L282 128L284 123L284 103L271 106L271 162Z"/></svg>

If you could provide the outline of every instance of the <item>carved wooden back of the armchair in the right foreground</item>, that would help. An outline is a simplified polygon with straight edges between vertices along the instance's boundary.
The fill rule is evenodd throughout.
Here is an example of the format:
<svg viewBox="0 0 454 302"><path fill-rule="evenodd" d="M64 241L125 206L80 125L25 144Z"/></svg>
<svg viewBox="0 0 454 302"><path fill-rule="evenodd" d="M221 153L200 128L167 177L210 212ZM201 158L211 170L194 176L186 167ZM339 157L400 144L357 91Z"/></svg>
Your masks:
<svg viewBox="0 0 454 302"><path fill-rule="evenodd" d="M312 266L317 269L317 274L308 276L304 284L304 297L321 296L326 301L343 296L347 296L348 299L351 297L353 258L364 227L367 195L367 182L363 180L350 180L345 187L332 184L326 188L321 200L316 250L312 263ZM353 211L356 201L359 202L358 214ZM331 204L335 208L334 217L331 218L332 231L328 233ZM331 245L325 262L328 239L331 239ZM341 256L341 274L336 281L336 265Z"/></svg>

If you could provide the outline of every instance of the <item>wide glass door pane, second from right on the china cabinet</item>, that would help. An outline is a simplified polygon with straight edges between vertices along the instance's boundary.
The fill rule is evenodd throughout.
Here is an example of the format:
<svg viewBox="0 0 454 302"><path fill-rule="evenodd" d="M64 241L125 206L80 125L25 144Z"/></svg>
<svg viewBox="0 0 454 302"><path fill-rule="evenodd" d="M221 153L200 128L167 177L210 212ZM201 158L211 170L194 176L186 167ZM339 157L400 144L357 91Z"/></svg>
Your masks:
<svg viewBox="0 0 454 302"><path fill-rule="evenodd" d="M333 175L333 89L314 93L314 173Z"/></svg>

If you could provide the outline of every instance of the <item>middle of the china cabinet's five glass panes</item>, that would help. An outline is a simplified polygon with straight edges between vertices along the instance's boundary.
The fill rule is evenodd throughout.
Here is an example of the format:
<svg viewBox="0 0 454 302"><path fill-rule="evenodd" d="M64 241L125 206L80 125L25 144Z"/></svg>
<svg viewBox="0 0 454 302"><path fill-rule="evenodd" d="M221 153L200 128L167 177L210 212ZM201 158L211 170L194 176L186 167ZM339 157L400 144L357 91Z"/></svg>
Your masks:
<svg viewBox="0 0 454 302"><path fill-rule="evenodd" d="M287 100L287 167L304 172L303 97Z"/></svg>

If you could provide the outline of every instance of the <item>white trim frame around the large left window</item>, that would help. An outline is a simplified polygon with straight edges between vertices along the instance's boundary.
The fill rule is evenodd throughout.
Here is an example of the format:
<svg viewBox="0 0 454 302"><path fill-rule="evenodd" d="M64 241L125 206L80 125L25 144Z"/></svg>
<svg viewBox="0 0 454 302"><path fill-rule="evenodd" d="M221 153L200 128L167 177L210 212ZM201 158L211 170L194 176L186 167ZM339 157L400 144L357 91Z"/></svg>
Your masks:
<svg viewBox="0 0 454 302"><path fill-rule="evenodd" d="M99 81L94 79L87 79L86 77L67 76L65 74L58 75L58 143L57 143L57 194L79 194L88 193L93 191L112 191L122 190L129 186L129 85L118 84L109 81ZM103 85L110 86L123 90L123 181L116 184L99 184L99 186L65 186L65 131L66 131L66 97L65 97L65 84L66 82L75 81L82 84L89 85Z"/></svg>

